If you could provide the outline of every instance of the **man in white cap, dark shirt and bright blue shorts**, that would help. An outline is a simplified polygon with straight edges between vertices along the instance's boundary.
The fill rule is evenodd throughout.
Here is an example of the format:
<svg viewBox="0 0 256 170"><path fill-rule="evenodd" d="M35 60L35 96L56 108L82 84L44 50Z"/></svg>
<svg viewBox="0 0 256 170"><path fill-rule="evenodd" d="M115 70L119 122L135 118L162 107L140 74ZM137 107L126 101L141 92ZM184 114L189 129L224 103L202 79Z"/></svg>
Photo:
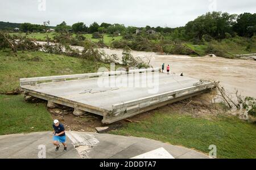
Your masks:
<svg viewBox="0 0 256 170"><path fill-rule="evenodd" d="M60 143L64 146L64 151L67 151L65 128L58 120L53 121L53 145L56 146L55 151L59 151Z"/></svg>

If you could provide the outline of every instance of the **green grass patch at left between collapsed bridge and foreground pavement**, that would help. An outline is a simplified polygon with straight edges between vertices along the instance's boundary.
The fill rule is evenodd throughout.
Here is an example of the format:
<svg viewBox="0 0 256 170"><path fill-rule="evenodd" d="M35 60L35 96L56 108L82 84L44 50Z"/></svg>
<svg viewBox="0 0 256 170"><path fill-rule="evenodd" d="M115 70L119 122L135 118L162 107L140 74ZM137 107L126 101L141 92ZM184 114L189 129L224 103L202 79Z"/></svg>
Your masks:
<svg viewBox="0 0 256 170"><path fill-rule="evenodd" d="M45 103L26 103L21 95L0 95L0 108L0 135L52 130Z"/></svg>

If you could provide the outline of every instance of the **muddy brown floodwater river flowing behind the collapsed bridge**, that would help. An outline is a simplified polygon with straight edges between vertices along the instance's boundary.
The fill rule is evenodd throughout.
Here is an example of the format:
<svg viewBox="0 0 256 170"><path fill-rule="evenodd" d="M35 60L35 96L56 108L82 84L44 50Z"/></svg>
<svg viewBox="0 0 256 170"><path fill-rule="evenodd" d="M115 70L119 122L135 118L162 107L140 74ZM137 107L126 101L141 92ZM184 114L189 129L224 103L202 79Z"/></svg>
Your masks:
<svg viewBox="0 0 256 170"><path fill-rule="evenodd" d="M122 50L104 49L107 54L122 56ZM150 59L150 65L161 67L163 63L171 66L171 73L205 80L220 81L226 91L237 89L243 96L256 98L256 61L227 59L222 57L189 57L180 55L160 55L152 52L131 52L134 57L144 61Z"/></svg>

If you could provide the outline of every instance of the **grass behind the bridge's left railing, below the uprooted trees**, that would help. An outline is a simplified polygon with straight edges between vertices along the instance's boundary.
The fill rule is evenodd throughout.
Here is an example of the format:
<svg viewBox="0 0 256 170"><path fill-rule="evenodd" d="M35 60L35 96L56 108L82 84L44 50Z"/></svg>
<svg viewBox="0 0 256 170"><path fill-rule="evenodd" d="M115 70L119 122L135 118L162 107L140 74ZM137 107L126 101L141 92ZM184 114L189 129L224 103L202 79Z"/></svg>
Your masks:
<svg viewBox="0 0 256 170"><path fill-rule="evenodd" d="M0 51L0 92L19 87L19 78L65 74L95 73L108 64L44 52Z"/></svg>

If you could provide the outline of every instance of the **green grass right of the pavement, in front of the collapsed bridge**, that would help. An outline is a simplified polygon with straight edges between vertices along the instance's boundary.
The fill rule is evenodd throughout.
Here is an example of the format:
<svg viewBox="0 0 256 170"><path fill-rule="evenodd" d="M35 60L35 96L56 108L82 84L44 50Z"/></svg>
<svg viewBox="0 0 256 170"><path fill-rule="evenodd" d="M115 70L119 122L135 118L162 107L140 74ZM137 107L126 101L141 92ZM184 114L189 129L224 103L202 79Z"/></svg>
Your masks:
<svg viewBox="0 0 256 170"><path fill-rule="evenodd" d="M155 139L206 154L210 145L216 145L218 158L256 158L256 125L234 116L207 119L156 112L141 124L128 124L110 133Z"/></svg>

